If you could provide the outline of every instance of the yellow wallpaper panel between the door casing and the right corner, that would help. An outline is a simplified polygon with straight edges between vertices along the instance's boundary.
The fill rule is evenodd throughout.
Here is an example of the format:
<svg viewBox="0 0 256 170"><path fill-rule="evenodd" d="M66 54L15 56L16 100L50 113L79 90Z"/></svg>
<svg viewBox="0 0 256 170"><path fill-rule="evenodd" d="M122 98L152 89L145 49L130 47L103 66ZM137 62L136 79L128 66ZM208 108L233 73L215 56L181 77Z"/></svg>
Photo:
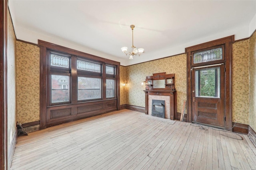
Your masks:
<svg viewBox="0 0 256 170"><path fill-rule="evenodd" d="M249 124L249 40L233 44L232 121Z"/></svg>

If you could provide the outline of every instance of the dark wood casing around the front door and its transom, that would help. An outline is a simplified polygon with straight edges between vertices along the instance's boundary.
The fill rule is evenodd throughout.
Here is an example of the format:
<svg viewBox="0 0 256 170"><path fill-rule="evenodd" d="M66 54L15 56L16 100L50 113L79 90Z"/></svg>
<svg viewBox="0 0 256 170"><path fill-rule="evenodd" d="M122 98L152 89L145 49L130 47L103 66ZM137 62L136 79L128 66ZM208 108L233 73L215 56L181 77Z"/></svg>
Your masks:
<svg viewBox="0 0 256 170"><path fill-rule="evenodd" d="M194 66L200 66L200 64L192 65L192 59L190 55L194 51L208 49L216 46L223 45L225 49L225 59L222 61L212 61L210 64L224 63L225 65L225 129L230 129L232 127L232 43L234 43L234 35L221 38L218 40L213 40L211 42L202 43L199 45L194 45L185 48L185 53L187 54L187 120L192 122L192 72L191 68ZM204 65L203 63L202 65Z"/></svg>

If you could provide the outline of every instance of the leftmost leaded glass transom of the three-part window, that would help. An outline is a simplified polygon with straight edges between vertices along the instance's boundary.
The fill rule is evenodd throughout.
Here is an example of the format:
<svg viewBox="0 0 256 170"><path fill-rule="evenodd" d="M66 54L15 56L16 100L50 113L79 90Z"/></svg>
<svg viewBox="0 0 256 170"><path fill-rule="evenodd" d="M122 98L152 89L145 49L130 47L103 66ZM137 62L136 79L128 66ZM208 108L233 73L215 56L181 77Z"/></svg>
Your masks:
<svg viewBox="0 0 256 170"><path fill-rule="evenodd" d="M51 65L69 68L69 57L51 53Z"/></svg>

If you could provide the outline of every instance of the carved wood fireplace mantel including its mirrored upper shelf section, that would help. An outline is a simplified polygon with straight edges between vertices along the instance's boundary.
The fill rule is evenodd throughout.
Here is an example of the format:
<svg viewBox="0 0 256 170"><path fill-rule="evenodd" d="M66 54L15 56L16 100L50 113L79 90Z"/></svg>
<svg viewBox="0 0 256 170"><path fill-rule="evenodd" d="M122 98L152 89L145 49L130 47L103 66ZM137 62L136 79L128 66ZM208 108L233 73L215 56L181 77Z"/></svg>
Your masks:
<svg viewBox="0 0 256 170"><path fill-rule="evenodd" d="M145 92L145 114L149 114L150 103L149 96L155 96L155 98L161 98L163 100L166 99L168 102L168 111L170 112L170 116L165 118L170 118L171 120L177 119L177 97L175 90L175 79L174 74L166 74L166 73L155 73L152 76L146 77L146 90ZM168 97L166 97L168 96ZM150 97L150 99L152 98Z"/></svg>

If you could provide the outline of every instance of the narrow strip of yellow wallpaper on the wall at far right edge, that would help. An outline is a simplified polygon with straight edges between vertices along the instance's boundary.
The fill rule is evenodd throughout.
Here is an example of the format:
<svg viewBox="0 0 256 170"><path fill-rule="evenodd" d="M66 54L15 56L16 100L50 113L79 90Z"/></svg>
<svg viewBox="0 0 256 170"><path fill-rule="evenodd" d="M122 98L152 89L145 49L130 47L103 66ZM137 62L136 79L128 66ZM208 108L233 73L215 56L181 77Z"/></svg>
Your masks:
<svg viewBox="0 0 256 170"><path fill-rule="evenodd" d="M256 131L256 33L249 40L250 127Z"/></svg>

